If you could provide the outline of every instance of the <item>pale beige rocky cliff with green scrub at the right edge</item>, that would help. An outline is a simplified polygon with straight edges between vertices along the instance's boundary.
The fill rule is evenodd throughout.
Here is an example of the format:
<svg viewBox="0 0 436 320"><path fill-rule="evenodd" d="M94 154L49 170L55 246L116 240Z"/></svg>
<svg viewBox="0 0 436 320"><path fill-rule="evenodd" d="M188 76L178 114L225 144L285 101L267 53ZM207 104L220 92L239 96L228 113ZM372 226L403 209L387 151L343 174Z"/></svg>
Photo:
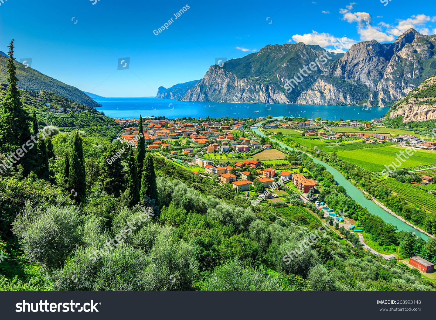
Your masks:
<svg viewBox="0 0 436 320"><path fill-rule="evenodd" d="M392 106L389 119L399 116L404 123L436 120L436 76L429 77Z"/></svg>

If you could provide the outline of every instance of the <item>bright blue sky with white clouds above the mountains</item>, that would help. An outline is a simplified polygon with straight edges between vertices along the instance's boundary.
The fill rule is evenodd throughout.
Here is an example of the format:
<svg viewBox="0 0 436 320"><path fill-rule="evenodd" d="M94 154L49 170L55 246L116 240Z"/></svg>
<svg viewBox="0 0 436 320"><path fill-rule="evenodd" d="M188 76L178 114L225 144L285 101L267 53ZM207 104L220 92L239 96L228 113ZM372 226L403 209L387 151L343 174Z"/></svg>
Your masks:
<svg viewBox="0 0 436 320"><path fill-rule="evenodd" d="M154 96L159 86L201 79L215 58L267 44L332 50L339 38L347 50L358 41L392 42L410 27L436 34L435 9L429 0L3 0L0 51L14 38L18 61L32 58L32 68L59 81L106 97ZM365 14L372 25L362 27ZM129 69L117 70L126 57Z"/></svg>

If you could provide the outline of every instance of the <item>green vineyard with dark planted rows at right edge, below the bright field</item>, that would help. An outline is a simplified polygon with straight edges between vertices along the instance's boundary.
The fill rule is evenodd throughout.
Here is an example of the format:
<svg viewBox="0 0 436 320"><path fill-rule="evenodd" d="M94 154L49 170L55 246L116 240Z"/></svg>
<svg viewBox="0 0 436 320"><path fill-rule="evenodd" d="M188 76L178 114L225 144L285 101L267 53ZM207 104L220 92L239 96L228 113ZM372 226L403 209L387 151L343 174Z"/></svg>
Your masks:
<svg viewBox="0 0 436 320"><path fill-rule="evenodd" d="M402 196L406 201L421 207L427 211L436 213L436 196L413 187L411 184L403 184L395 179L388 178L384 184L396 194Z"/></svg>

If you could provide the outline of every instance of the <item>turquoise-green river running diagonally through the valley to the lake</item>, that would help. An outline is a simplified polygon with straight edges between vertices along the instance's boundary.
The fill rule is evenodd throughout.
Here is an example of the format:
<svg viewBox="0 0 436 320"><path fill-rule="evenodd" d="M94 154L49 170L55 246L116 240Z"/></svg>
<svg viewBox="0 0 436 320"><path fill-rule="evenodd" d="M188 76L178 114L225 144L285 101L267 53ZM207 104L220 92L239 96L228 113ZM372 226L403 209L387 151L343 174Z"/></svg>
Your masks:
<svg viewBox="0 0 436 320"><path fill-rule="evenodd" d="M260 126L261 123L256 124L255 126ZM251 127L251 129L256 133L259 134L260 136L266 137L262 132L260 132L259 129ZM271 138L269 138L271 139ZM271 139L273 140L273 139ZM290 148L290 146L286 146L285 144L273 140L277 143L279 143L279 145L285 149L285 148ZM290 148L293 149L293 148ZM294 149L297 150L297 149ZM300 151L300 150L297 150ZM311 157L311 156L310 156ZM392 214L390 214L389 212L383 210L382 208L380 208L377 204L375 204L373 201L368 200L364 197L364 194L357 188L355 187L350 181L348 181L338 170L336 170L334 167L331 167L330 165L328 165L327 163L324 163L321 160L318 160L317 158L311 157L313 159L313 162L315 163L320 163L322 164L324 167L326 167L327 171L330 172L333 177L334 180L336 180L337 184L344 187L345 190L347 191L347 195L350 196L354 201L356 201L358 204L360 204L362 207L368 209L368 211L371 214L375 214L378 215L380 218L382 218L385 222L390 223L392 225L395 225L399 231L409 231L409 232L415 232L415 235L417 235L419 238L422 238L423 240L427 241L427 239L429 238L427 235L423 234L421 231L416 230L415 228L412 228L411 226L409 226L408 224L406 224L405 222L401 221L400 219L394 217Z"/></svg>

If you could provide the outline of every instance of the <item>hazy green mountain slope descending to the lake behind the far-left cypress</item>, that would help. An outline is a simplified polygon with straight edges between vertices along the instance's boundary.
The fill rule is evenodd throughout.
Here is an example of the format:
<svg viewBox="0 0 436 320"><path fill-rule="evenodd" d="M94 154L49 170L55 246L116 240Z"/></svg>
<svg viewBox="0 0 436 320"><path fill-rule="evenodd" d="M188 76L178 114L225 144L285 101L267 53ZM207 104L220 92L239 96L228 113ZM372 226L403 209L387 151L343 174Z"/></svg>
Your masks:
<svg viewBox="0 0 436 320"><path fill-rule="evenodd" d="M4 53L2 52L2 54L0 54L0 82L7 82L6 65L7 57L5 57ZM17 85L20 89L29 89L34 91L47 90L91 107L100 106L84 92L72 87L71 85L67 85L54 78L44 75L30 67L25 68L26 66L20 62L15 61L15 65L17 66L17 78L19 80Z"/></svg>

